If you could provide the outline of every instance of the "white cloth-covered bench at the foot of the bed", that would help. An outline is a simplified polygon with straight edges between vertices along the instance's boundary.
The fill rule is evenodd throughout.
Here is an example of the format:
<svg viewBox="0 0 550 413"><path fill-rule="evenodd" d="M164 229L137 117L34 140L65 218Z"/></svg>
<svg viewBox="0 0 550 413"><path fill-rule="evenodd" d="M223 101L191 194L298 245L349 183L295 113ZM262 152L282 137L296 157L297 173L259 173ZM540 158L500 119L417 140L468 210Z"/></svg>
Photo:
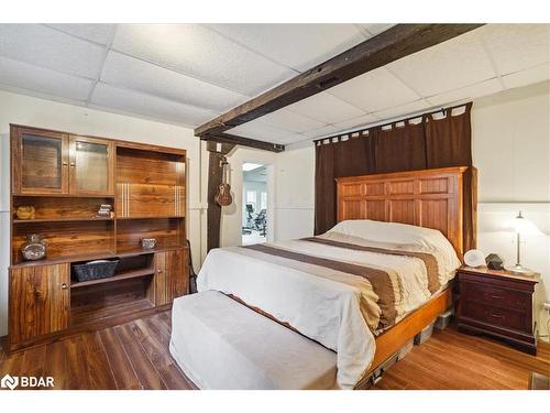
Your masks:
<svg viewBox="0 0 550 413"><path fill-rule="evenodd" d="M331 389L337 355L217 291L174 301L170 354L200 389Z"/></svg>

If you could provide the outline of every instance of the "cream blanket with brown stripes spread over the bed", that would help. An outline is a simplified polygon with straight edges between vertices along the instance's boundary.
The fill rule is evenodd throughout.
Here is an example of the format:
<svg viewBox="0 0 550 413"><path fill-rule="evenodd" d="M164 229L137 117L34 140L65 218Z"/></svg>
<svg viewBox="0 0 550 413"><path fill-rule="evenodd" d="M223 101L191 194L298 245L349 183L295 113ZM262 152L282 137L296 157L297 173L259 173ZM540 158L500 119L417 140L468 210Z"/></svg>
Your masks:
<svg viewBox="0 0 550 413"><path fill-rule="evenodd" d="M199 291L217 290L337 351L341 388L374 357L374 336L428 301L452 278L441 251L338 232L212 250Z"/></svg>

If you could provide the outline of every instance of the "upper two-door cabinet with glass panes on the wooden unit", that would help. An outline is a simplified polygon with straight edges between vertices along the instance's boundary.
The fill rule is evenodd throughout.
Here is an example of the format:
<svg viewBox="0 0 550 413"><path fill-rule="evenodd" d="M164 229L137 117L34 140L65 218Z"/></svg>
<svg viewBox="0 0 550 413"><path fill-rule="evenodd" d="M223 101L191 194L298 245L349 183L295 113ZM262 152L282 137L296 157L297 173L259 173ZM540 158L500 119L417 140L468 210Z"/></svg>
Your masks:
<svg viewBox="0 0 550 413"><path fill-rule="evenodd" d="M112 195L112 141L12 126L13 194Z"/></svg>

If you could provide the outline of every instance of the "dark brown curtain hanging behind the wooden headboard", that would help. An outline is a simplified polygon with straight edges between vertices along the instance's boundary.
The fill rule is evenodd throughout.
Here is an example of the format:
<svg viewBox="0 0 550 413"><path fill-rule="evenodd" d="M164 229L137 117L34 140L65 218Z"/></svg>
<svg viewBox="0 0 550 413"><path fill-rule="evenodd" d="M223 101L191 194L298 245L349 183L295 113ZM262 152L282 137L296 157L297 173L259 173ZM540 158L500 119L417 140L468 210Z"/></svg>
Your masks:
<svg viewBox="0 0 550 413"><path fill-rule="evenodd" d="M447 166L472 166L470 112L417 117L384 128L375 127L358 138L318 143L316 146L315 233L337 224L336 178L373 173L403 172ZM441 112L439 112L441 113ZM475 247L475 170L464 176L464 249Z"/></svg>

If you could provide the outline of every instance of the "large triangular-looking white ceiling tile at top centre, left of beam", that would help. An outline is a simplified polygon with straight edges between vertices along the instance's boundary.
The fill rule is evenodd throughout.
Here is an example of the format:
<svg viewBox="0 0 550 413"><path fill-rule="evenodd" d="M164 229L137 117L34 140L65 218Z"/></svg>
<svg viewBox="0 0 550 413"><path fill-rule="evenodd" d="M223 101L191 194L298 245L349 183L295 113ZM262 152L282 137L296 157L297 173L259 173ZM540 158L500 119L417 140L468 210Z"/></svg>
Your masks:
<svg viewBox="0 0 550 413"><path fill-rule="evenodd" d="M354 24L211 24L209 26L298 72L308 70L365 40Z"/></svg>

